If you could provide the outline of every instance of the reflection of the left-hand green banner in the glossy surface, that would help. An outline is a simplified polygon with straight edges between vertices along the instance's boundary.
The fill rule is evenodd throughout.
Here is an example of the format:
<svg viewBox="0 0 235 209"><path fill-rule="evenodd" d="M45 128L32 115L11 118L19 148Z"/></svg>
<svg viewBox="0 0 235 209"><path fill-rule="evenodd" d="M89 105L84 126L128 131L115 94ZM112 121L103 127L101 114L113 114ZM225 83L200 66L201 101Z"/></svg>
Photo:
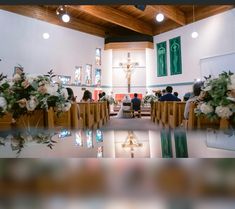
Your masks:
<svg viewBox="0 0 235 209"><path fill-rule="evenodd" d="M162 157L172 158L172 145L171 145L171 133L168 129L161 130L161 147L162 147Z"/></svg>

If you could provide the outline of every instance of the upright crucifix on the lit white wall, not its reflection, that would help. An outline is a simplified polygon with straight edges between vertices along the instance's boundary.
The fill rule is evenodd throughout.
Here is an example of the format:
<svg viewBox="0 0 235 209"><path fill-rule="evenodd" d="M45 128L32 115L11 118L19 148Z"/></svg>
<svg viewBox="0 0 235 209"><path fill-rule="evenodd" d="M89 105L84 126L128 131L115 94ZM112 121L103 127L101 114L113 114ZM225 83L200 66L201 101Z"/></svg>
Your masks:
<svg viewBox="0 0 235 209"><path fill-rule="evenodd" d="M128 93L131 93L131 74L134 70L134 67L138 66L137 62L131 62L130 52L127 53L127 62L119 64L124 72L126 73Z"/></svg>

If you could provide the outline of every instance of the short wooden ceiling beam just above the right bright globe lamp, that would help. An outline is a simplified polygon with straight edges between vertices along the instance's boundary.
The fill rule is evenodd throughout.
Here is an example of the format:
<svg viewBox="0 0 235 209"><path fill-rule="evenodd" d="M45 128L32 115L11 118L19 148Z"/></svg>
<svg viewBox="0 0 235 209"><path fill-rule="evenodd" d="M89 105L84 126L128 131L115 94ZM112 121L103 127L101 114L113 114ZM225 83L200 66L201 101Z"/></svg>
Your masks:
<svg viewBox="0 0 235 209"><path fill-rule="evenodd" d="M176 22L179 25L186 24L186 18L184 13L179 9L175 8L174 6L168 6L168 5L149 5L149 6L154 8L156 11L160 11L168 19Z"/></svg>

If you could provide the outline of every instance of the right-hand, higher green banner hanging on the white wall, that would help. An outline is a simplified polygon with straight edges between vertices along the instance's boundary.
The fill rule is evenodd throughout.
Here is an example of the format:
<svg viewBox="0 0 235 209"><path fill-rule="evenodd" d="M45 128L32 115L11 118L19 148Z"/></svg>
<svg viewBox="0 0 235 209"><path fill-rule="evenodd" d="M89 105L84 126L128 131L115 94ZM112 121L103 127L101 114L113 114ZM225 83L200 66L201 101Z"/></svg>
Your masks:
<svg viewBox="0 0 235 209"><path fill-rule="evenodd" d="M182 73L180 36L170 39L170 65L171 75Z"/></svg>

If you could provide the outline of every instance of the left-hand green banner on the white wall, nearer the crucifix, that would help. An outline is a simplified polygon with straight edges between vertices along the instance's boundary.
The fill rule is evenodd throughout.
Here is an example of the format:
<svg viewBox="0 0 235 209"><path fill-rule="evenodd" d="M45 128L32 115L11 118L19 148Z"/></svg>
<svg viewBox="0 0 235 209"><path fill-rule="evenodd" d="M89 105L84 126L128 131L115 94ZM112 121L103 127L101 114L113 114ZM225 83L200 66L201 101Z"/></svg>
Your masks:
<svg viewBox="0 0 235 209"><path fill-rule="evenodd" d="M167 75L166 41L157 44L157 76Z"/></svg>

